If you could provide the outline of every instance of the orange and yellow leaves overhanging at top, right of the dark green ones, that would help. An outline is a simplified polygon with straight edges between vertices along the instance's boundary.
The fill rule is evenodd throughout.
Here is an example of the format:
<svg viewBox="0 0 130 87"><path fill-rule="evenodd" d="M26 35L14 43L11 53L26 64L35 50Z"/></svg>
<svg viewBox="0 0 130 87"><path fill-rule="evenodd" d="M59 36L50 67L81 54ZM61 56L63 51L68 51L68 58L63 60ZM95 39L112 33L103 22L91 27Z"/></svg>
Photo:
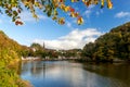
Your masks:
<svg viewBox="0 0 130 87"><path fill-rule="evenodd" d="M65 24L65 18L60 17L60 10L66 12L67 14L70 15L70 17L76 17L77 18L77 24L81 25L83 23L83 18L75 10L75 8L72 8L70 5L66 5L67 0L23 0L23 3L25 5L28 5L27 8L32 11L32 16L37 18L37 14L35 13L35 7L38 7L39 9L43 10L43 12L51 17L53 21L57 22L58 24L63 25ZM90 7L91 4L98 4L101 2L101 8L104 8L105 2L107 3L107 8L112 9L113 3L110 0L70 0L70 2L83 2L86 7ZM31 5L31 7L30 7ZM31 10L32 9L32 10ZM17 22L21 24L20 22Z"/></svg>

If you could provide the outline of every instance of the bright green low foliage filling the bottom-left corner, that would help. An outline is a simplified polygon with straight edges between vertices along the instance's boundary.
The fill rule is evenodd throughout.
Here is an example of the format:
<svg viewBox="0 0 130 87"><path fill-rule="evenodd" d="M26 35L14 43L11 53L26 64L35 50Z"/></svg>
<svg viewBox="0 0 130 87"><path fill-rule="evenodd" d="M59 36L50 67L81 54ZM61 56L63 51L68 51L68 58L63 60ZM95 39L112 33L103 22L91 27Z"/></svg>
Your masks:
<svg viewBox="0 0 130 87"><path fill-rule="evenodd" d="M2 62L0 61L0 65ZM14 70L0 66L0 87L30 87L22 80Z"/></svg>

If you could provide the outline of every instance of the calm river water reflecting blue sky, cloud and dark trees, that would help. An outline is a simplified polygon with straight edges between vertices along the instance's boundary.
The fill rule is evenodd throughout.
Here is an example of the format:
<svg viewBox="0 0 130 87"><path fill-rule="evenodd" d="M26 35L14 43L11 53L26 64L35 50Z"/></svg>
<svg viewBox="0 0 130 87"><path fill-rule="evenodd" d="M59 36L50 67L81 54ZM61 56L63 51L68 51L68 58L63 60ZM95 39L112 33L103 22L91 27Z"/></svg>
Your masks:
<svg viewBox="0 0 130 87"><path fill-rule="evenodd" d="M24 61L21 77L34 87L130 87L130 65Z"/></svg>

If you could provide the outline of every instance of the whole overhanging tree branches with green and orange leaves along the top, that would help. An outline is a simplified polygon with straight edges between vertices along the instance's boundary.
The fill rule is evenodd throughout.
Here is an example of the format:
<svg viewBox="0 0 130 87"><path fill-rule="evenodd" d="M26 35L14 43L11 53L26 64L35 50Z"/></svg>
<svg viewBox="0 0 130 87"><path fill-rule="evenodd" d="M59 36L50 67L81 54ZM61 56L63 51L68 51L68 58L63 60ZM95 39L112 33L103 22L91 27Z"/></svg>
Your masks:
<svg viewBox="0 0 130 87"><path fill-rule="evenodd" d="M82 24L82 16L75 11L74 8L66 4L67 0L0 0L0 13L5 13L12 17L12 22L16 25L23 25L21 20L21 12L26 8L35 18L38 18L36 10L39 9L46 13L49 17L63 25L65 23L64 17L60 17L60 10L69 13L72 17L77 18L77 24ZM70 0L72 2L82 2L89 7L91 4L98 4L101 2L101 9L104 8L104 3L107 3L107 8L112 9L113 3L110 0Z"/></svg>

